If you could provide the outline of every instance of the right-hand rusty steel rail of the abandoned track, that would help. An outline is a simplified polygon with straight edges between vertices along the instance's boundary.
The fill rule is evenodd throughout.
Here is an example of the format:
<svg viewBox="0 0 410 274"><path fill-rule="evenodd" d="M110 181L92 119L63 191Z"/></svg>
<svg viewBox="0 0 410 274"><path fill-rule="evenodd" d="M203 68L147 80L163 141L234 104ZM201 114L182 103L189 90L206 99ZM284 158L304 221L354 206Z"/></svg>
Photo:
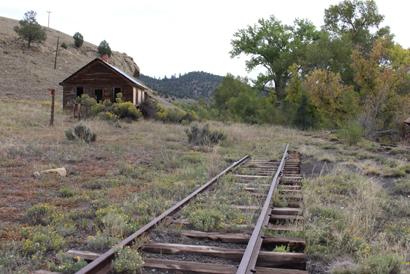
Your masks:
<svg viewBox="0 0 410 274"><path fill-rule="evenodd" d="M249 239L248 245L246 246L245 252L242 256L242 260L239 264L236 274L252 274L255 273L256 261L258 260L259 251L262 246L264 232L262 228L265 227L269 222L269 215L272 210L271 202L272 196L276 192L279 184L279 180L282 177L282 171L285 166L286 156L288 152L289 144L287 144L285 153L283 154L282 160L280 161L278 170L273 177L272 184L269 189L268 196L266 197L265 204L263 205L261 214L259 215L258 222L253 229L251 238Z"/></svg>

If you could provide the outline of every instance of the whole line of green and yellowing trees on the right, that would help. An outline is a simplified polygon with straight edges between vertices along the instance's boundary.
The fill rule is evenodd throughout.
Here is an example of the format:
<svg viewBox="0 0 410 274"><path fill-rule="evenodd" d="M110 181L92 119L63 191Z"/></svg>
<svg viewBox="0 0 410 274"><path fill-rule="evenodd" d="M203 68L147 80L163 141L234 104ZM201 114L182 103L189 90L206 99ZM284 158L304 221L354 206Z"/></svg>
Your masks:
<svg viewBox="0 0 410 274"><path fill-rule="evenodd" d="M397 128L409 115L410 51L394 42L373 0L344 0L308 19L283 24L275 16L240 29L231 58L248 56L256 80L228 74L211 104L184 106L205 119L368 131Z"/></svg>

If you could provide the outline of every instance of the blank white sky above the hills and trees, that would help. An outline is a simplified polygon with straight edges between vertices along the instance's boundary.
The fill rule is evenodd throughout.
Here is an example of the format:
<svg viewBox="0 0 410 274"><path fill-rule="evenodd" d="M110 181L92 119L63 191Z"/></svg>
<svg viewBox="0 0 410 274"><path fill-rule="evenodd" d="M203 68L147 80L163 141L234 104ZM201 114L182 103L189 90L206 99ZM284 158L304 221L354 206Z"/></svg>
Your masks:
<svg viewBox="0 0 410 274"><path fill-rule="evenodd" d="M117 1L1 1L0 16L23 19L29 10L37 21L69 35L80 32L87 42L106 40L113 51L134 58L141 73L163 78L191 71L248 76L245 57L231 59L230 41L239 29L270 15L284 24L307 18L320 29L324 10L341 0L117 0ZM383 26L391 27L395 42L410 47L410 2L376 0ZM263 72L261 69L259 72Z"/></svg>

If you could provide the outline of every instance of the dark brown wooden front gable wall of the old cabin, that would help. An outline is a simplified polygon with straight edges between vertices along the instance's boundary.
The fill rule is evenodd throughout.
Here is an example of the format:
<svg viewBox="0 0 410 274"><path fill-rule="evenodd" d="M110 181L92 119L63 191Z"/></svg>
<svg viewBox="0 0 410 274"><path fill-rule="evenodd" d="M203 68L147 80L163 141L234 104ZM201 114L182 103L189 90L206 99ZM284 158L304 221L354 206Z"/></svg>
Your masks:
<svg viewBox="0 0 410 274"><path fill-rule="evenodd" d="M67 79L63 85L63 106L76 99L76 88L84 88L84 94L95 98L95 90L103 90L103 100L113 101L114 88L121 88L123 101L132 102L134 84L105 65L94 62ZM141 92L138 90L138 92Z"/></svg>

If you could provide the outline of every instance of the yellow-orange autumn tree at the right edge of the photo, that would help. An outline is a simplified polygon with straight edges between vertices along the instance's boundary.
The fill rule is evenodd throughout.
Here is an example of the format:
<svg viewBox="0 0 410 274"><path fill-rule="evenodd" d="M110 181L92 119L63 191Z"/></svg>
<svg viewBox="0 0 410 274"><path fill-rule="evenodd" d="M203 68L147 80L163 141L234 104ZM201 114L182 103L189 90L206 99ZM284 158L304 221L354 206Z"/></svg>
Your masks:
<svg viewBox="0 0 410 274"><path fill-rule="evenodd" d="M390 45L390 39L380 38L370 53L355 50L352 54L355 81L361 87L365 109L365 126L370 130L388 128L397 116L409 110L410 97L407 90L401 89L408 80L409 63L392 62Z"/></svg>

